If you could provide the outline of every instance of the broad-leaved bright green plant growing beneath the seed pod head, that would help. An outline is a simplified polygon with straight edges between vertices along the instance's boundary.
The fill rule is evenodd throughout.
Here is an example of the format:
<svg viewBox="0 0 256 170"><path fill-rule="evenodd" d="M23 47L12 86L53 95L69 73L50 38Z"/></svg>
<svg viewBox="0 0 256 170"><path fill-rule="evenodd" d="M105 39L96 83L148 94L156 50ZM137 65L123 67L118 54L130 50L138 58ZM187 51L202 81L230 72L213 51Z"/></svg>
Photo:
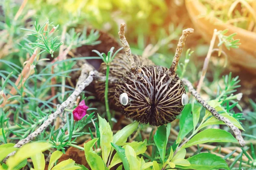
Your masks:
<svg viewBox="0 0 256 170"><path fill-rule="evenodd" d="M221 102L216 100L209 102L209 104L215 107L218 111L223 111L220 103ZM192 112L193 114L191 114ZM192 145L207 142L237 142L236 139L225 130L209 128L198 133L198 131L202 130L204 127L222 124L221 121L218 121L212 117L209 111L205 111L205 116L201 123L198 125L200 112L201 106L197 103L193 103L193 110L191 104L186 105L183 112L181 113L180 132L177 136L177 140L172 145L169 145L169 149L167 149L167 144L169 141L171 124L158 127L156 133L154 134L154 147L157 147L158 151L155 150L155 152L157 152L157 155L159 156L155 155L154 157L156 159L148 162L146 162L143 158L148 158L148 156L145 155L145 151L147 149L146 140L143 142L125 143L128 136L130 136L131 133L133 133L133 131L137 128L138 123L133 123L126 126L122 130L118 131L114 136L112 136L113 133L111 131L110 125L106 122L105 119L102 119L100 116L98 116L100 138L93 139L87 144L84 144L85 152L89 152L86 154L87 161L89 161L88 164L92 169L95 170L104 168L105 166L105 168L111 168L121 162L125 170L135 170L138 167L143 170L146 168L162 168L162 170L164 170L166 168L169 169L175 167L181 169L197 170L205 170L206 167L208 169L229 169L224 159L211 153L199 153L190 157L189 159L184 159L186 155L186 148ZM234 125L243 129L236 119L232 119L232 117L230 117L228 114L221 114L223 116L227 116L231 122L234 123ZM189 136L189 138L184 142L181 142L182 139L187 134L189 134L191 130L192 134ZM98 140L100 140L100 146L102 148L102 158L92 150L93 145L95 145ZM116 150L116 154L111 160L110 158L113 149ZM143 154L143 156L138 157L140 154ZM92 159L92 157L95 157L95 159Z"/></svg>

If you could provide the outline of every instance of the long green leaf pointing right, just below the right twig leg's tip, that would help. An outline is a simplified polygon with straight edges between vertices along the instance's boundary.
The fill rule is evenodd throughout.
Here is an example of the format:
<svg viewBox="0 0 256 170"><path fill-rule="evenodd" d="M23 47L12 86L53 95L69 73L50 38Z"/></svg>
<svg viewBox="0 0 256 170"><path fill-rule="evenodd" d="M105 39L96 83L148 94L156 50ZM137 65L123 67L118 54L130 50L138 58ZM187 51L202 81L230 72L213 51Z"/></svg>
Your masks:
<svg viewBox="0 0 256 170"><path fill-rule="evenodd" d="M193 146L195 144L203 144L207 142L237 142L231 133L221 129L206 129L196 134L189 140L183 148Z"/></svg>

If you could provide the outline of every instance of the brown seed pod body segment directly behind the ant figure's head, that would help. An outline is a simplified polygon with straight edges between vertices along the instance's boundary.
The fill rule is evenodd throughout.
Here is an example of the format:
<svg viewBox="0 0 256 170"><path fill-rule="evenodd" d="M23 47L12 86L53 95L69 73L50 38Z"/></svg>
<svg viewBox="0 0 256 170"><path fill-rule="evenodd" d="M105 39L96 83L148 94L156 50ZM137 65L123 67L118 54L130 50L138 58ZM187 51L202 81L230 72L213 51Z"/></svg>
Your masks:
<svg viewBox="0 0 256 170"><path fill-rule="evenodd" d="M153 62L149 59L143 59L141 56L133 55L134 62L136 65L153 65ZM103 75L106 75L106 64L103 62L99 68L99 72ZM108 83L108 101L111 107L115 107L116 100L114 99L115 96L115 89L118 80L125 74L127 71L130 71L131 67L129 66L129 62L124 53L117 54L110 65L109 71L109 83ZM97 97L102 101L105 102L104 99L104 92L105 92L105 82L102 81L95 81L94 84L95 91Z"/></svg>

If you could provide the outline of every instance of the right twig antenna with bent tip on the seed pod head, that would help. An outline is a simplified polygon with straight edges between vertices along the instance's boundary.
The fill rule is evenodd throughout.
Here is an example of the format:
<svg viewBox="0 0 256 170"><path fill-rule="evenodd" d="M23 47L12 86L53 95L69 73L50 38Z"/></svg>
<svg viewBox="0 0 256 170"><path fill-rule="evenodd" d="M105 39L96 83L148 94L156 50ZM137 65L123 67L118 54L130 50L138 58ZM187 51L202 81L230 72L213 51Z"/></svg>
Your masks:
<svg viewBox="0 0 256 170"><path fill-rule="evenodd" d="M171 71L172 75L174 75L174 76L176 75L175 72L177 70L177 66L178 66L178 62L180 59L180 54L182 52L182 48L185 45L186 37L189 34L192 34L193 32L194 32L193 28L187 28L182 31L182 35L180 37L180 40L179 40L177 48L176 48L175 56L173 57L173 60L172 60L172 66L170 68L170 71Z"/></svg>

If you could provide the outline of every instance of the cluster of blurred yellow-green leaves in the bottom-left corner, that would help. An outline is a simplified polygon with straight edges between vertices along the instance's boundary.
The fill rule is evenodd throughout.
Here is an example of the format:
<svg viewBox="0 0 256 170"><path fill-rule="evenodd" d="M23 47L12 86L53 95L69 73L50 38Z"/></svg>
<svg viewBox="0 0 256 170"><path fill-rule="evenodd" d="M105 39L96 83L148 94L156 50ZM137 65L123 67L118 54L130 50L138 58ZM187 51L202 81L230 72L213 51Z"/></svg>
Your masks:
<svg viewBox="0 0 256 170"><path fill-rule="evenodd" d="M0 160L3 160L3 158L5 158L9 153L17 150L15 156L11 156L6 161L6 164L3 164L0 167L1 170L19 170L26 166L28 158L32 159L34 168L31 167L31 170L44 170L45 158L42 152L52 147L52 144L47 142L33 142L26 144L21 148L13 147L14 145L15 144L12 143L0 145L0 152L3 153ZM75 161L72 159L62 161L58 165L54 166L55 162L61 157L62 154L63 153L58 150L51 154L48 170L59 170L63 168L69 168L70 170L81 169L81 167L76 165Z"/></svg>

